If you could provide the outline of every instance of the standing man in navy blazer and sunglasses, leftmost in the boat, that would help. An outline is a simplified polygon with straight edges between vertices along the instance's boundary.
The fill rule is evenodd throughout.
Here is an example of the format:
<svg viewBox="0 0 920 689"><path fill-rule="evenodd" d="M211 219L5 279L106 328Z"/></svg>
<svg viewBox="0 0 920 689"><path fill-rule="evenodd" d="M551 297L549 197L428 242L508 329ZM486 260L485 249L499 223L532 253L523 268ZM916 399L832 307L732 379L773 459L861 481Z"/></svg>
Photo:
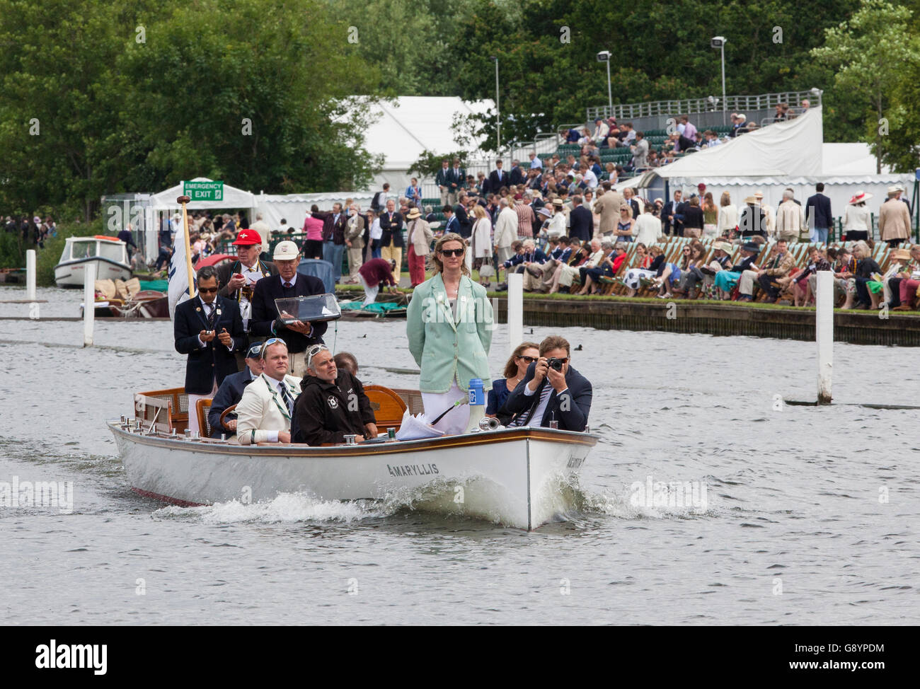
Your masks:
<svg viewBox="0 0 920 689"><path fill-rule="evenodd" d="M246 347L246 330L239 315L239 304L217 295L220 282L212 266L198 271L198 294L177 304L173 334L176 351L188 354L185 365L185 392L189 396L189 428L200 432L196 402L210 397L236 373L236 350Z"/></svg>

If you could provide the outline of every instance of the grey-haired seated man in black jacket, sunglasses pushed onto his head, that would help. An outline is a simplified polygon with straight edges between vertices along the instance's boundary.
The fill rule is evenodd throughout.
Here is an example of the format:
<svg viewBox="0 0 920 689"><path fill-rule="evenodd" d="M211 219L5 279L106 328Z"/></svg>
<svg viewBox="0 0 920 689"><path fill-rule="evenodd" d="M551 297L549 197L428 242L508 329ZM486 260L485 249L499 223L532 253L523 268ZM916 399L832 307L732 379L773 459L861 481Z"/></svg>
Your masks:
<svg viewBox="0 0 920 689"><path fill-rule="evenodd" d="M355 376L336 366L325 346L310 350L300 395L294 402L292 442L310 445L345 442L354 435L356 442L377 437L371 400Z"/></svg>

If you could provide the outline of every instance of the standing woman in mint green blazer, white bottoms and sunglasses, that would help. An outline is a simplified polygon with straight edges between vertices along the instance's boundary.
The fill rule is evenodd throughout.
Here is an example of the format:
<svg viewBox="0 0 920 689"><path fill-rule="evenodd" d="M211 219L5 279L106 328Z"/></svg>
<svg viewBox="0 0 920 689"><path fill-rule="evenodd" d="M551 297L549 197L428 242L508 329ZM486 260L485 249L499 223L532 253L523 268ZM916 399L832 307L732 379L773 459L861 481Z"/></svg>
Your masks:
<svg viewBox="0 0 920 689"><path fill-rule="evenodd" d="M408 304L408 349L421 369L419 389L429 423L467 398L470 379L481 378L485 390L492 387L492 305L485 288L470 279L465 254L463 237L443 235L429 255L434 275L415 288ZM469 406L463 405L434 428L462 433L468 422Z"/></svg>

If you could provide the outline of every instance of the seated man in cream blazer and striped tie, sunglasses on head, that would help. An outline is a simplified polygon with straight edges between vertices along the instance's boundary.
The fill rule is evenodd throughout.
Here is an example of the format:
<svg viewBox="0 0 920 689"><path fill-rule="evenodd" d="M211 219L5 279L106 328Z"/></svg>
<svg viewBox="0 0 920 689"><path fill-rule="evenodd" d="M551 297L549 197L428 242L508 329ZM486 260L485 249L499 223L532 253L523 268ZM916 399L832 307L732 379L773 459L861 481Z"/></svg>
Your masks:
<svg viewBox="0 0 920 689"><path fill-rule="evenodd" d="M300 381L288 372L287 345L267 339L261 351L264 369L243 391L236 405L236 437L243 445L291 442L293 402Z"/></svg>

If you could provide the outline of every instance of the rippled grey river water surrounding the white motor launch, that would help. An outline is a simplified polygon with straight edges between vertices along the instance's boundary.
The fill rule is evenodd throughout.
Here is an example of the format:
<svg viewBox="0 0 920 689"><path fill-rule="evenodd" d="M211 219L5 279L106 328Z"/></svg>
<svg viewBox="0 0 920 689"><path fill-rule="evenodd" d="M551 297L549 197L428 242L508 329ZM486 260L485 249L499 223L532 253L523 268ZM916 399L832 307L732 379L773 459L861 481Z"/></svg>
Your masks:
<svg viewBox="0 0 920 689"><path fill-rule="evenodd" d="M857 406L917 404L914 350L837 344L834 406L792 407L814 398L813 343L568 328L602 442L581 509L525 533L400 504L141 498L104 420L182 384L171 325L98 322L82 349L81 323L43 320L82 294L39 298L40 319L0 321L0 483L73 482L73 510L0 507L7 624L920 622L917 412ZM416 368L405 322L344 321L327 341L365 382L418 385L387 370ZM500 327L493 374L507 353ZM705 499L656 506L650 481Z"/></svg>

